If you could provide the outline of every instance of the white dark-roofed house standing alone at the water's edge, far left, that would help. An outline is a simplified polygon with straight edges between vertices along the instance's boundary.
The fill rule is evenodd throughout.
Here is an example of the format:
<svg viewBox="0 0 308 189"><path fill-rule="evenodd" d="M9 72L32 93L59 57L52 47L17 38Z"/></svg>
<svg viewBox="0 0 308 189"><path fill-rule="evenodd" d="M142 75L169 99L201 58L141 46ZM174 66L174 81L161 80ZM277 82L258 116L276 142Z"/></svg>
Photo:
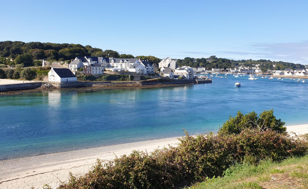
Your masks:
<svg viewBox="0 0 308 189"><path fill-rule="evenodd" d="M48 81L55 83L77 82L77 77L67 68L51 68Z"/></svg>

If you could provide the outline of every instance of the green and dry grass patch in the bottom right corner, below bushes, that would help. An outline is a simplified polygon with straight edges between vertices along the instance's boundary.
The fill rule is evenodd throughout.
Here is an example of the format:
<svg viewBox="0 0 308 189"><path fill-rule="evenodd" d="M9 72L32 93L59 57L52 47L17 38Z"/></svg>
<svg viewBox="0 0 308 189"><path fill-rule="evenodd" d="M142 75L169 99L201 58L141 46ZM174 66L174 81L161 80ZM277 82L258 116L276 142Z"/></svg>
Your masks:
<svg viewBox="0 0 308 189"><path fill-rule="evenodd" d="M207 179L184 189L299 189L308 188L308 155L288 158L281 163L270 160L257 166L244 161L225 171L223 177Z"/></svg>

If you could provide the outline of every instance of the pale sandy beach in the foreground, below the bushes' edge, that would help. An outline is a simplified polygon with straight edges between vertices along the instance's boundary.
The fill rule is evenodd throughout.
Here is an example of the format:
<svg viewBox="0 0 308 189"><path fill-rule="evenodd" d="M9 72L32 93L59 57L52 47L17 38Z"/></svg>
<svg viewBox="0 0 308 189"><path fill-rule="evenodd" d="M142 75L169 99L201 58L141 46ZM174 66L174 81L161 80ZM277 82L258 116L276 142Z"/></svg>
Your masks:
<svg viewBox="0 0 308 189"><path fill-rule="evenodd" d="M308 133L308 124L287 126L288 132ZM151 152L156 148L176 146L177 137L119 144L99 148L45 154L40 156L0 161L0 188L42 188L48 183L53 188L67 181L68 173L84 174L96 159L111 160L133 150Z"/></svg>

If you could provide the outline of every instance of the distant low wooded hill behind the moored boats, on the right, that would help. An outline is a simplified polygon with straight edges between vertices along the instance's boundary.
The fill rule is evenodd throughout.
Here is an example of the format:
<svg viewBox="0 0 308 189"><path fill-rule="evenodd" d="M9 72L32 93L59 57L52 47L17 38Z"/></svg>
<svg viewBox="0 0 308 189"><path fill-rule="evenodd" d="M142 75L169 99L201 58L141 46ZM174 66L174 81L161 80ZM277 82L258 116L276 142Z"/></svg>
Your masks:
<svg viewBox="0 0 308 189"><path fill-rule="evenodd" d="M207 60L211 59L212 61L208 62ZM212 68L235 68L238 65L244 66L253 66L259 64L259 68L263 72L266 72L268 69L270 70L284 70L285 68L297 69L297 68L305 68L304 65L301 64L293 64L290 62L283 62L283 61L270 61L270 60L230 60L226 58L217 58L216 56L211 56L209 58L191 58L186 57L184 59L178 59L177 64L180 66L190 66L190 67L207 67L208 69ZM273 65L276 65L275 68Z"/></svg>

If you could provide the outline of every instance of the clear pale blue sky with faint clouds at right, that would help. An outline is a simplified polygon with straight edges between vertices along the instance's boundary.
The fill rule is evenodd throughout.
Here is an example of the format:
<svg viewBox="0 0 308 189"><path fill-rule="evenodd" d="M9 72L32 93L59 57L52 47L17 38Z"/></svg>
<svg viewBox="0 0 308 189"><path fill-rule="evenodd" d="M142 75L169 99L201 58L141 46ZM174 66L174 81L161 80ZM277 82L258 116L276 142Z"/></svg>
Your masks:
<svg viewBox="0 0 308 189"><path fill-rule="evenodd" d="M0 0L0 41L308 64L308 1Z"/></svg>

